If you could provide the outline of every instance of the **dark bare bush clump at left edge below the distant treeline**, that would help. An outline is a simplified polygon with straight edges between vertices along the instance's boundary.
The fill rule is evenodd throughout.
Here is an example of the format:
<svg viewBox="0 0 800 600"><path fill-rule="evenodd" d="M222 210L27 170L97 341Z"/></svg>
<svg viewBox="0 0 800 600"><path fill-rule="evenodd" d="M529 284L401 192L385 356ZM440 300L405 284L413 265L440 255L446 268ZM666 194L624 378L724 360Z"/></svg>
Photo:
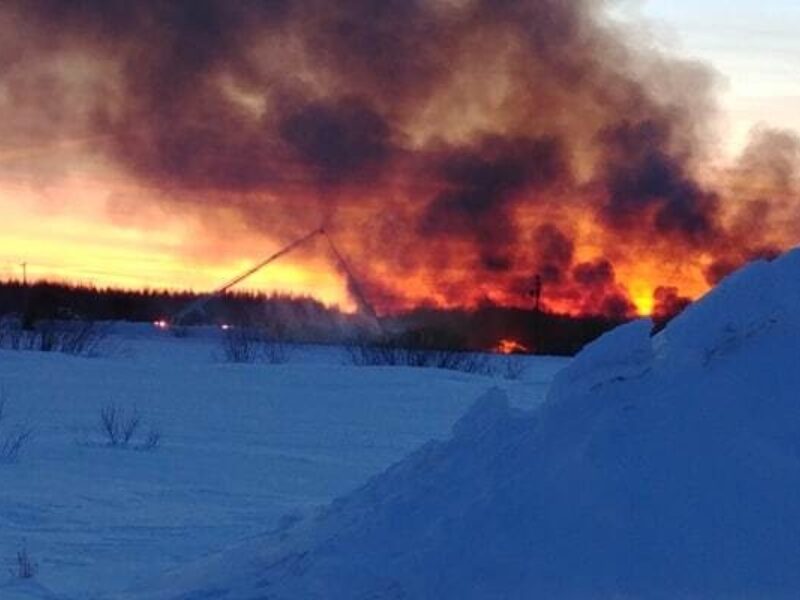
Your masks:
<svg viewBox="0 0 800 600"><path fill-rule="evenodd" d="M108 335L107 328L79 319L37 321L30 329L18 318L0 321L0 348L62 352L74 356L97 356Z"/></svg>

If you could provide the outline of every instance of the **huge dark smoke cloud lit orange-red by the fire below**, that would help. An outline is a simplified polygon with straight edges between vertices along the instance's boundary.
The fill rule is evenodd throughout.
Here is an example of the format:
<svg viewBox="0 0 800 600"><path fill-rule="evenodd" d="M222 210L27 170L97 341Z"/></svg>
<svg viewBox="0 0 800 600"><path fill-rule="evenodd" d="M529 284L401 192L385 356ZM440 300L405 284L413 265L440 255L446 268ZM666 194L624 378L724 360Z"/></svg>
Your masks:
<svg viewBox="0 0 800 600"><path fill-rule="evenodd" d="M608 6L12 0L0 134L96 139L271 238L325 223L382 311L523 306L536 274L554 310L632 314L635 280L678 305L800 241L800 143L762 129L712 171L713 73Z"/></svg>

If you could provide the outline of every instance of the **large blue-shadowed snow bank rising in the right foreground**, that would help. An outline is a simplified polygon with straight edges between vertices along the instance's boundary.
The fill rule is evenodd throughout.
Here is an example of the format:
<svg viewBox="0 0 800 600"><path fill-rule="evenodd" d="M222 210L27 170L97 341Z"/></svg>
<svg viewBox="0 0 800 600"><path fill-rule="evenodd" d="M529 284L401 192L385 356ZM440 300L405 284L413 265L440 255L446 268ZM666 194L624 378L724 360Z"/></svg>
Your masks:
<svg viewBox="0 0 800 600"><path fill-rule="evenodd" d="M489 391L449 441L147 597L794 595L800 251L650 330L586 348L538 411Z"/></svg>

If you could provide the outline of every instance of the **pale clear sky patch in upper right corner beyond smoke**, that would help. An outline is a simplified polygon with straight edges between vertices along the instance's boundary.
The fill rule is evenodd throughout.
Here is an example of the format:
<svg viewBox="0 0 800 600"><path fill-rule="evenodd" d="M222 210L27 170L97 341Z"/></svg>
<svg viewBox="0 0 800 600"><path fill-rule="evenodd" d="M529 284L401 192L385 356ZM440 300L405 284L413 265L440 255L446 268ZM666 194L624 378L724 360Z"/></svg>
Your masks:
<svg viewBox="0 0 800 600"><path fill-rule="evenodd" d="M800 131L800 3L646 0L625 8L650 20L664 46L717 71L731 151L758 123Z"/></svg>

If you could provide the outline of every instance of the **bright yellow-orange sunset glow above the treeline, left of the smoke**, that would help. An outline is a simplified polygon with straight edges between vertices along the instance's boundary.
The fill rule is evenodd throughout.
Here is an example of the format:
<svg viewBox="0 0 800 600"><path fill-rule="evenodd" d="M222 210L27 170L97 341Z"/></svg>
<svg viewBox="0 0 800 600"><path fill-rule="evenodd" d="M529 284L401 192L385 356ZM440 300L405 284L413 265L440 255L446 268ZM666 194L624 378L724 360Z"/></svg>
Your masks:
<svg viewBox="0 0 800 600"><path fill-rule="evenodd" d="M0 183L0 278L21 280L25 263L29 282L206 292L280 246L252 233L220 242L197 219L150 205L136 219L115 217L108 198L117 191L67 181L42 195ZM287 256L236 289L308 295L352 310L346 282L323 250Z"/></svg>

